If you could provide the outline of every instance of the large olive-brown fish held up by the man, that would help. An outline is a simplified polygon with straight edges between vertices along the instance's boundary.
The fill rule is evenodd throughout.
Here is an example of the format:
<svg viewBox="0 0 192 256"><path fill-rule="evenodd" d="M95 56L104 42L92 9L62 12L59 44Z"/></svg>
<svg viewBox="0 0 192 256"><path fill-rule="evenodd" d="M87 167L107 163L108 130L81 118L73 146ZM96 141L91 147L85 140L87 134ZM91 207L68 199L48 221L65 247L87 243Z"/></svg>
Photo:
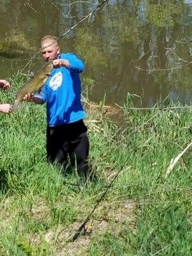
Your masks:
<svg viewBox="0 0 192 256"><path fill-rule="evenodd" d="M44 86L47 78L51 75L51 70L53 65L51 62L45 63L38 72L27 81L16 93L15 102L13 104L13 109L19 108L19 103L22 101L23 97L27 93L40 92L41 88Z"/></svg>

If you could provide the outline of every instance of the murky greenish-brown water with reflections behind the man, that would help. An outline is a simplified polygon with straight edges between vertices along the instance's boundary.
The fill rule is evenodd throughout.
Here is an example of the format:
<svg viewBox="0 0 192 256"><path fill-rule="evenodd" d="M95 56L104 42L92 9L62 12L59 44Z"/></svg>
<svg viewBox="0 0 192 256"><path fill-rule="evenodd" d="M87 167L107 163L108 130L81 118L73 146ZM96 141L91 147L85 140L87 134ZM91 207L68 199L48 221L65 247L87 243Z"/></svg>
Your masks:
<svg viewBox="0 0 192 256"><path fill-rule="evenodd" d="M63 35L101 1L0 1L0 70L9 77L28 63L42 36ZM60 40L86 64L92 100L136 106L192 100L192 1L111 0ZM41 55L22 70L37 70Z"/></svg>

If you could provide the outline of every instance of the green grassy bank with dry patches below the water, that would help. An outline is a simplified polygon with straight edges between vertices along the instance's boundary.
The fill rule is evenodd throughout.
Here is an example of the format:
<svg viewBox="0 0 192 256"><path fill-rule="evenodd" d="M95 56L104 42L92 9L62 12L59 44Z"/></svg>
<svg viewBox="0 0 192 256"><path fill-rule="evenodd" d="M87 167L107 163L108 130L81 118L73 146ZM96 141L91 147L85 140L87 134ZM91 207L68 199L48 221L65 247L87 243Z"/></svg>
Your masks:
<svg viewBox="0 0 192 256"><path fill-rule="evenodd" d="M14 77L1 101L13 102L24 79ZM191 148L164 175L191 142L192 110L131 106L131 95L119 109L84 99L97 177L84 188L76 170L63 176L46 161L45 106L24 102L0 116L0 255L191 255ZM118 172L89 221L92 232L72 243Z"/></svg>

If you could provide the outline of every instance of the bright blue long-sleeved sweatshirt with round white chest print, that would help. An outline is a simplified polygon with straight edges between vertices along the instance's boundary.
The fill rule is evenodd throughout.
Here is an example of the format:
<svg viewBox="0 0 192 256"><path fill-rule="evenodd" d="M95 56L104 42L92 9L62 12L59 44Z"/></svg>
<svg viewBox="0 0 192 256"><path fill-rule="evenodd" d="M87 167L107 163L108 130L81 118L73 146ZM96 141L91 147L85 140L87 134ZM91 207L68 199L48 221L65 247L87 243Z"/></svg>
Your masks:
<svg viewBox="0 0 192 256"><path fill-rule="evenodd" d="M35 94L42 99L42 104L47 102L47 125L50 127L77 122L85 116L79 78L84 69L83 61L72 53L60 54L59 58L68 60L69 68L52 68L42 93Z"/></svg>

